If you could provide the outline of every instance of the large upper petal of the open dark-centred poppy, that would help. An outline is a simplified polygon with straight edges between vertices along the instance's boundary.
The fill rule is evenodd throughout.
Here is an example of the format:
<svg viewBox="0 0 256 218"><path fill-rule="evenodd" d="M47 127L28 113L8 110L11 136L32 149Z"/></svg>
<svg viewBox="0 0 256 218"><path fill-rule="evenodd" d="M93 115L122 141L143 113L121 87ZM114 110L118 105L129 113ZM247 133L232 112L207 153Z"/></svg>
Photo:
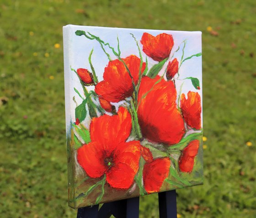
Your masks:
<svg viewBox="0 0 256 218"><path fill-rule="evenodd" d="M107 149L113 150L115 146L129 137L132 129L132 118L124 107L119 107L117 115L107 114L95 117L91 121L91 141L104 144Z"/></svg>

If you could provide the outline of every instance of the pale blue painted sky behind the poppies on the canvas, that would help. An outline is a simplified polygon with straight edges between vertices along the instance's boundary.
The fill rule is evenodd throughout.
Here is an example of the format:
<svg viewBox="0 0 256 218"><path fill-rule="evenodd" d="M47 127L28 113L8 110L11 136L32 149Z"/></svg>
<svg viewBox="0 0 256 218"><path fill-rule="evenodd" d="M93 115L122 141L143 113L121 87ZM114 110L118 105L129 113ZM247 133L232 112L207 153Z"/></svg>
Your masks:
<svg viewBox="0 0 256 218"><path fill-rule="evenodd" d="M182 43L183 40L187 39L187 44L185 48L185 55L184 58L191 56L192 54L196 54L202 52L202 41L201 41L201 32L186 32L186 31L170 31L170 30L142 30L142 29L125 29L125 28L108 28L108 27L86 27L86 26L75 26L69 25L69 64L72 68L85 68L89 69L90 64L88 61L89 54L91 49L94 49L92 55L92 64L95 68L96 74L99 80L102 80L104 68L108 64L108 58L106 54L102 51L100 44L96 40L87 39L85 36L76 36L76 30L84 30L88 31L93 35L101 37L101 39L106 42L110 43L112 47L117 50L117 36L120 42L120 50L121 50L121 57L125 58L131 54L135 54L139 57L139 52L136 46L136 43L130 33L133 33L134 37L136 37L137 41L139 42L139 46L142 50L142 45L140 43L140 39L144 32L148 32L153 36L156 36L160 33L167 33L171 34L174 39L174 46L171 50L172 53L178 48L178 46ZM181 48L178 52L174 54L174 58L177 58L178 61L181 59L182 55L182 48L183 44L181 44ZM110 54L112 59L116 59L115 56L112 54L112 51L109 48L105 48L107 53ZM146 55L142 52L144 61ZM148 57L149 68L154 64L157 64L153 59ZM168 62L166 62L167 64ZM165 64L165 65L166 65ZM65 69L66 70L66 69ZM67 69L68 70L68 69ZM69 73L72 72L69 70ZM163 72L160 72L160 74ZM182 87L182 93L187 93L189 90L197 91L201 95L202 99L202 57L193 57L187 61L185 61L179 70L180 77L179 79L183 79L186 77L196 77L200 81L201 90L195 90L192 86L190 80L185 80L185 83ZM82 88L80 87L79 80L77 76L73 73L71 77L72 81L70 81L71 86L75 86L77 90L82 93ZM177 91L179 92L180 85L183 81L176 81ZM91 89L94 89L94 86L91 86ZM73 88L70 88L70 96L75 96L77 103L81 102L79 96L75 93ZM72 101L73 102L73 101ZM70 114L70 118L72 121L75 120L75 103L71 102L70 110L73 111ZM203 121L202 121L203 122Z"/></svg>

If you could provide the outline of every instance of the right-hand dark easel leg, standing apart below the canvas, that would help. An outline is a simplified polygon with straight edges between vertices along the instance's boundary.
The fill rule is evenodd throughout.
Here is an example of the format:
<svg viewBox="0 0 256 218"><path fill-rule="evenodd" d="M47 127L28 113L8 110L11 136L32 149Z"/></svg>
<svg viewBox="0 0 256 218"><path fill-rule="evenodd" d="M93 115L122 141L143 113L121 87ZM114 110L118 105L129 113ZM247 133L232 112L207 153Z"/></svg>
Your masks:
<svg viewBox="0 0 256 218"><path fill-rule="evenodd" d="M158 193L160 218L177 218L176 190Z"/></svg>

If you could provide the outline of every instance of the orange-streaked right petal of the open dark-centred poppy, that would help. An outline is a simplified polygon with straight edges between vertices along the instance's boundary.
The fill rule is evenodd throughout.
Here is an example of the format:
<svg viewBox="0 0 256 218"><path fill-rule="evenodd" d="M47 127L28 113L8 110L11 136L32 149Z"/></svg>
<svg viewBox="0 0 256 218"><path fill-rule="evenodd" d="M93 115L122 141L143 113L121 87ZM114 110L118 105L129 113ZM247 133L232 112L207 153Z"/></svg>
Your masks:
<svg viewBox="0 0 256 218"><path fill-rule="evenodd" d="M123 142L114 150L114 163L123 163L133 169L134 175L139 169L140 143L139 141Z"/></svg>

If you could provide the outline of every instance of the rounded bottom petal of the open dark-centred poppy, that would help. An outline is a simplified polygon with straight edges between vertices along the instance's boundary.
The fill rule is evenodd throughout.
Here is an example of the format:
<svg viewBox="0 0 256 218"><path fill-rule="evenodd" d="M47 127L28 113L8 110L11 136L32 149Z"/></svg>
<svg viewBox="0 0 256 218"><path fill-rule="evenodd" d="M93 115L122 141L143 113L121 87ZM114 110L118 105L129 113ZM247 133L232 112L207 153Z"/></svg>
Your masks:
<svg viewBox="0 0 256 218"><path fill-rule="evenodd" d="M128 189L133 184L135 174L127 164L118 163L106 172L106 180L113 188Z"/></svg>

